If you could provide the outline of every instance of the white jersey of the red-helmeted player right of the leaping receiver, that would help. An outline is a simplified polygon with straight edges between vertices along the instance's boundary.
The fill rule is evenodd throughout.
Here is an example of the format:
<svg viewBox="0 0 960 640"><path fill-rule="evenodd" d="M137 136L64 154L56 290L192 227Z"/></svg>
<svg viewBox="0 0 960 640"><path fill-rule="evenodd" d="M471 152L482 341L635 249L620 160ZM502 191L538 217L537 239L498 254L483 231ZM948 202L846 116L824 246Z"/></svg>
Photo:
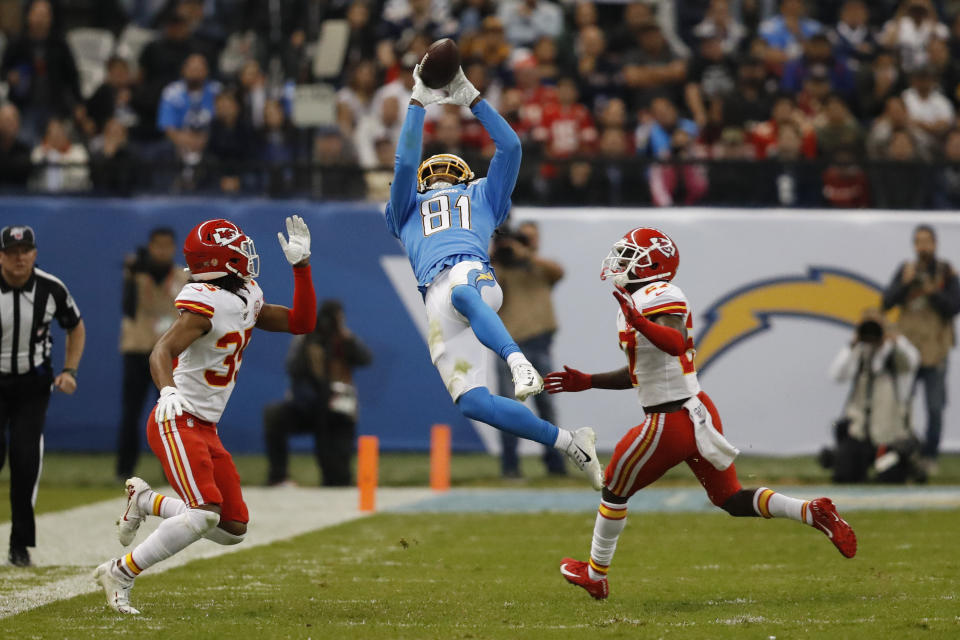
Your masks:
<svg viewBox="0 0 960 640"><path fill-rule="evenodd" d="M655 347L643 334L627 326L623 312L617 313L620 348L627 355L630 380L645 407L683 400L700 392L693 364L693 318L687 298L680 287L669 282L654 282L634 292L633 302L644 316L667 314L683 318L687 327L687 350L671 356Z"/></svg>

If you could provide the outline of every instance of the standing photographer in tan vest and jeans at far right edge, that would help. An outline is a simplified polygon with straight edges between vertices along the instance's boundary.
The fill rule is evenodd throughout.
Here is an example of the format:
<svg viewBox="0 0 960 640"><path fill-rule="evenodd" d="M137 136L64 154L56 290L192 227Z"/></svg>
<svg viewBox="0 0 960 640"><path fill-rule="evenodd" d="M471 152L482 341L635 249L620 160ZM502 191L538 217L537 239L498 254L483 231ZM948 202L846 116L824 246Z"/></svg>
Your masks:
<svg viewBox="0 0 960 640"><path fill-rule="evenodd" d="M900 265L883 293L883 310L900 308L897 328L920 351L913 384L923 383L927 433L921 454L928 473L936 473L943 407L947 400L947 356L955 339L953 317L960 311L957 272L936 257L937 234L922 224L913 231L917 259Z"/></svg>

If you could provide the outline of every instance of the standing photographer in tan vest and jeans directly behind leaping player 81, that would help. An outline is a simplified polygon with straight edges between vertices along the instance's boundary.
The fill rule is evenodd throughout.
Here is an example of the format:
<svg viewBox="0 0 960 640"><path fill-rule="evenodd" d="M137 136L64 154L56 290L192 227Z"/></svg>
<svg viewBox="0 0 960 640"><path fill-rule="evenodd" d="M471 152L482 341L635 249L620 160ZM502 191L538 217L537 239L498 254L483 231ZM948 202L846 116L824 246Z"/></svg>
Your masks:
<svg viewBox="0 0 960 640"><path fill-rule="evenodd" d="M563 267L539 255L540 229L532 221L522 222L516 230L501 230L493 239L490 258L497 272L497 281L503 289L500 318L517 346L538 371L552 371L550 348L557 330L556 314L551 294L553 287L563 279ZM510 370L500 366L500 395L513 393ZM556 423L553 399L549 394L533 396L537 414L543 420ZM517 437L500 432L501 473L505 478L519 478L520 461L517 457ZM563 455L553 447L544 447L543 461L547 473L566 474Z"/></svg>

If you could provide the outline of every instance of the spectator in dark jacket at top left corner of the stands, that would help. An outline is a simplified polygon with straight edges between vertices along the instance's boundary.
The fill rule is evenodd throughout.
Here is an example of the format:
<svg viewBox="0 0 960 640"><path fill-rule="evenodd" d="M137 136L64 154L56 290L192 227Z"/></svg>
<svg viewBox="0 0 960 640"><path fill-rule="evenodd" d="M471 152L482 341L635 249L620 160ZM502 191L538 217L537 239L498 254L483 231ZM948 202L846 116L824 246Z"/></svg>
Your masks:
<svg viewBox="0 0 960 640"><path fill-rule="evenodd" d="M31 142L43 135L49 118L71 115L80 100L73 53L52 27L53 8L47 0L36 0L27 10L24 34L7 46L0 63L0 78L23 114Z"/></svg>

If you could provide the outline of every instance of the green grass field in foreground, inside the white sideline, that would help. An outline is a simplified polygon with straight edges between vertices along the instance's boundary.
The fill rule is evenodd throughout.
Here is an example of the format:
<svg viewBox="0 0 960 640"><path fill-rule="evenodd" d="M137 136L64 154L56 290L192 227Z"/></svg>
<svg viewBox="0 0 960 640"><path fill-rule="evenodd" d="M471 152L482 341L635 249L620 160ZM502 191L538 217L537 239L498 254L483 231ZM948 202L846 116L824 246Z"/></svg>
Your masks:
<svg viewBox="0 0 960 640"><path fill-rule="evenodd" d="M636 514L592 600L557 566L590 514L382 514L2 621L11 638L948 638L960 511L859 512L857 558L796 523ZM0 583L13 569L0 568Z"/></svg>

